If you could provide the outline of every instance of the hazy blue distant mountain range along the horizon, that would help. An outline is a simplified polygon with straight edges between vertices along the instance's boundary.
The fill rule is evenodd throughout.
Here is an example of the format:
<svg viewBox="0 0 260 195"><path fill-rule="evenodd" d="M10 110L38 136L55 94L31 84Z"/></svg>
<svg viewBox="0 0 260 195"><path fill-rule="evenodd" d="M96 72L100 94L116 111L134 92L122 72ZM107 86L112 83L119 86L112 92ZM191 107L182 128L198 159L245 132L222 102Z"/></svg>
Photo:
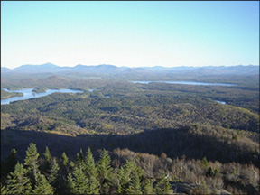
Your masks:
<svg viewBox="0 0 260 195"><path fill-rule="evenodd" d="M155 67L116 67L114 65L98 65L98 66L86 66L77 65L74 67L60 67L55 64L45 63L41 65L26 64L15 69L8 69L1 67L1 73L82 73L89 75L113 75L113 74L201 74L201 75L257 75L259 74L259 66L257 65L237 65L237 66L207 66L207 67L172 67L166 68L162 66Z"/></svg>

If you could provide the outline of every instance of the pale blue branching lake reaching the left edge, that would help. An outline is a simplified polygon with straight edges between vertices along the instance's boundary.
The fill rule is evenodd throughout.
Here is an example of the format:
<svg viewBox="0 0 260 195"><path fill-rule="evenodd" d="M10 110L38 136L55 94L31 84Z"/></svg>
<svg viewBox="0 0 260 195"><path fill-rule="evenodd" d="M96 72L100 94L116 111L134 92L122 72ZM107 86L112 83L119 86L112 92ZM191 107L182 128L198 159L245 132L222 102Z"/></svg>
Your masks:
<svg viewBox="0 0 260 195"><path fill-rule="evenodd" d="M52 93L82 93L83 92L81 90L71 90L71 89L47 89L46 92L38 94L32 92L34 88L25 88L19 90L8 90L7 88L2 88L2 89L7 92L23 93L23 97L12 97L12 98L1 99L1 105L9 104L10 102L18 101L18 100L40 98L40 97L48 96Z"/></svg>

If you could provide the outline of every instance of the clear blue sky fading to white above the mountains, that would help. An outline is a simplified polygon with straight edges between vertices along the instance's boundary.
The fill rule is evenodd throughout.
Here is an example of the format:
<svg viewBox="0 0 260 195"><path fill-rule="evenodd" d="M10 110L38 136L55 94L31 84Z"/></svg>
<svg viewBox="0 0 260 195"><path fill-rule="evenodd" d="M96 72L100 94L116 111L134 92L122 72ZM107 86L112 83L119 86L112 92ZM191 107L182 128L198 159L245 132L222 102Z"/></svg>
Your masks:
<svg viewBox="0 0 260 195"><path fill-rule="evenodd" d="M1 66L259 65L259 2L1 1Z"/></svg>

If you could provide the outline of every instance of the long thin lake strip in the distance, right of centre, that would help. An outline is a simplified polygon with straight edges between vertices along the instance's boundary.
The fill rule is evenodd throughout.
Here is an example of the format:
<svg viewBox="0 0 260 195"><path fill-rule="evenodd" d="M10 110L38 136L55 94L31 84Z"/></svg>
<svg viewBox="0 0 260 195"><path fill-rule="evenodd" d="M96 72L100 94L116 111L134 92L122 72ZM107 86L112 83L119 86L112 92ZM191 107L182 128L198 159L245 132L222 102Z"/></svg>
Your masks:
<svg viewBox="0 0 260 195"><path fill-rule="evenodd" d="M130 81L132 83L169 83L169 84L182 84L182 85L201 85L201 86L237 86L236 84L228 83L206 83L206 82L192 82L192 81Z"/></svg>

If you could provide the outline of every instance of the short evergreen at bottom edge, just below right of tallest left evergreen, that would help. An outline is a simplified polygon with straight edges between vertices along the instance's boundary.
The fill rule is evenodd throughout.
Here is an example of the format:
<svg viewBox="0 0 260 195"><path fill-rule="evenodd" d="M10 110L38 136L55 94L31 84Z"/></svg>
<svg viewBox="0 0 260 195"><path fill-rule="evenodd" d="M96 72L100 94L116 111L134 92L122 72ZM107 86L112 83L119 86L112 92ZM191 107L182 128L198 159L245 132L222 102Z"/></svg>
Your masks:
<svg viewBox="0 0 260 195"><path fill-rule="evenodd" d="M49 181L46 180L43 174L38 174L38 180L35 185L35 189L32 190L33 194L53 194L53 188Z"/></svg>

